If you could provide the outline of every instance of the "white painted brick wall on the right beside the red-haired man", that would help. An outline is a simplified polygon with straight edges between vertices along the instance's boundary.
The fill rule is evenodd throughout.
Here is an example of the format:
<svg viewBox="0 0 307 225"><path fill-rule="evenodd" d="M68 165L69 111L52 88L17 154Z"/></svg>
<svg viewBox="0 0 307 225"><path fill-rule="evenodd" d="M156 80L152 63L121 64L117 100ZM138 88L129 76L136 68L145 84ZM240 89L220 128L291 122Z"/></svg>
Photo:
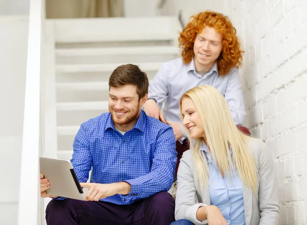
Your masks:
<svg viewBox="0 0 307 225"><path fill-rule="evenodd" d="M273 152L280 224L307 224L307 0L167 1L165 14L228 15L245 49L245 126Z"/></svg>

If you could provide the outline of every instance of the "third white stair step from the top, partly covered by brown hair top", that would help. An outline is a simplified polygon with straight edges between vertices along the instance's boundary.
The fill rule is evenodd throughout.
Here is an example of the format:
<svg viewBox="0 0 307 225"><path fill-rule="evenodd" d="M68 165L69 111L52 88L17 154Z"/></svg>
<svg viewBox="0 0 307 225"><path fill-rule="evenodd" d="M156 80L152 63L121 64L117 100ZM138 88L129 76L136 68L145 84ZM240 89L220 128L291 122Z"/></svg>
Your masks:
<svg viewBox="0 0 307 225"><path fill-rule="evenodd" d="M118 66L125 63L117 64L85 64L85 65L57 65L56 71L58 73L84 73L84 72L108 72L111 74ZM158 71L162 66L161 63L135 63L141 70L147 71Z"/></svg>

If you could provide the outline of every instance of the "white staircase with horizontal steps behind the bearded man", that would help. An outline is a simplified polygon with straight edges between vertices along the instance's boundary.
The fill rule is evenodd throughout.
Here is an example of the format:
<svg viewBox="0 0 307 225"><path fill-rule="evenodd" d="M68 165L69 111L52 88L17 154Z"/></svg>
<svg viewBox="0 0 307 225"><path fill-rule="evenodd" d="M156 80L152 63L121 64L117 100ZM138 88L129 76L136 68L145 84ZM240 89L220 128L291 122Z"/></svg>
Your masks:
<svg viewBox="0 0 307 225"><path fill-rule="evenodd" d="M44 145L58 158L71 159L82 122L108 111L108 78L116 67L136 64L150 80L163 62L179 56L176 17L58 19L46 29Z"/></svg>

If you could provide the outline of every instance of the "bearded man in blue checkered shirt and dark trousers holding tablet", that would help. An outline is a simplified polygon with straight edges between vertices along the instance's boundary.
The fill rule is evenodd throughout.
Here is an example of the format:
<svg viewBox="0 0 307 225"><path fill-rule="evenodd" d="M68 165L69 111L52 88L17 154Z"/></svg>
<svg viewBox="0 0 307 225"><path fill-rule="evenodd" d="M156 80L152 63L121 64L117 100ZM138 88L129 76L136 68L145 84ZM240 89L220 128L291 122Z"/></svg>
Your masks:
<svg viewBox="0 0 307 225"><path fill-rule="evenodd" d="M177 161L172 128L141 110L148 78L136 65L109 77L108 113L84 122L73 144L72 165L86 200L51 196L41 175L41 197L54 198L47 224L165 224L174 221L171 187ZM85 183L92 169L90 183Z"/></svg>

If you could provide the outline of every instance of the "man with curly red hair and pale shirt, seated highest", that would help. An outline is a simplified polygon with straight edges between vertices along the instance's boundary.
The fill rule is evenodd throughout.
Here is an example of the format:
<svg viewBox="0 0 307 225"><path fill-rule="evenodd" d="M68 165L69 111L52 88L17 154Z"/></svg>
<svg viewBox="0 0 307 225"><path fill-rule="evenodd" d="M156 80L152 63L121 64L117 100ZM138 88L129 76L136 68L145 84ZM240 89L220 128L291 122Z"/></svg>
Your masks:
<svg viewBox="0 0 307 225"><path fill-rule="evenodd" d="M162 65L149 84L148 100L144 105L147 115L167 122L173 128L178 152L176 172L182 153L188 149L179 115L179 99L185 91L200 85L213 86L226 98L240 129L245 117L238 72L243 51L230 19L212 11L191 16L180 33L179 45L182 57Z"/></svg>

